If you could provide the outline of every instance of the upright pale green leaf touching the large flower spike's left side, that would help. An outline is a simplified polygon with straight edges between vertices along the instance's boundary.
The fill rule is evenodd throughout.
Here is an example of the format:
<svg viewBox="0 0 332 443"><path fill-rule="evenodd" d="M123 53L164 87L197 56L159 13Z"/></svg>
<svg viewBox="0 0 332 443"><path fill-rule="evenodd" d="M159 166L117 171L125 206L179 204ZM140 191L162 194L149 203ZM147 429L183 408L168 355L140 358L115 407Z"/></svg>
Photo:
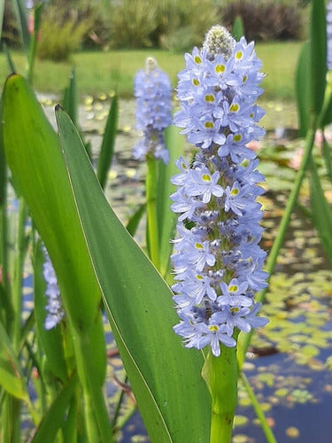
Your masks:
<svg viewBox="0 0 332 443"><path fill-rule="evenodd" d="M172 200L169 196L176 190L170 179L179 173L175 166L175 159L183 154L184 138L179 134L179 128L170 126L165 131L165 142L170 154L167 165L158 161L158 186L157 186L157 214L159 234L160 273L166 276L169 272L169 261L172 253L177 214L171 211Z"/></svg>

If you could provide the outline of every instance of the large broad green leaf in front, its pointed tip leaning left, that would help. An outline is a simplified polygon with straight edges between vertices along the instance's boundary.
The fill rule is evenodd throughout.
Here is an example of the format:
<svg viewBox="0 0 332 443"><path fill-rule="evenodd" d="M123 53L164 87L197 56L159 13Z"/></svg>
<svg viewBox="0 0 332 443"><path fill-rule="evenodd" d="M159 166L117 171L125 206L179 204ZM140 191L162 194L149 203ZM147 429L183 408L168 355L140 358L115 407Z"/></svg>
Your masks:
<svg viewBox="0 0 332 443"><path fill-rule="evenodd" d="M61 110L57 120L104 307L151 441L206 442L203 355L181 346L172 292L104 198L73 123Z"/></svg>

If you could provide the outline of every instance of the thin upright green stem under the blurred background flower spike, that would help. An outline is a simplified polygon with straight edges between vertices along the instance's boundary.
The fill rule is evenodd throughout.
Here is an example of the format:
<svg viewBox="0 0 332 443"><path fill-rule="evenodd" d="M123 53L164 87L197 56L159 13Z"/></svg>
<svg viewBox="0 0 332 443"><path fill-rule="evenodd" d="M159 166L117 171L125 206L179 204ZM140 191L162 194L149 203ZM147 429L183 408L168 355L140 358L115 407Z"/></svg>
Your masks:
<svg viewBox="0 0 332 443"><path fill-rule="evenodd" d="M157 160L147 155L146 205L148 214L148 249L152 263L159 269L159 237L157 217Z"/></svg>

